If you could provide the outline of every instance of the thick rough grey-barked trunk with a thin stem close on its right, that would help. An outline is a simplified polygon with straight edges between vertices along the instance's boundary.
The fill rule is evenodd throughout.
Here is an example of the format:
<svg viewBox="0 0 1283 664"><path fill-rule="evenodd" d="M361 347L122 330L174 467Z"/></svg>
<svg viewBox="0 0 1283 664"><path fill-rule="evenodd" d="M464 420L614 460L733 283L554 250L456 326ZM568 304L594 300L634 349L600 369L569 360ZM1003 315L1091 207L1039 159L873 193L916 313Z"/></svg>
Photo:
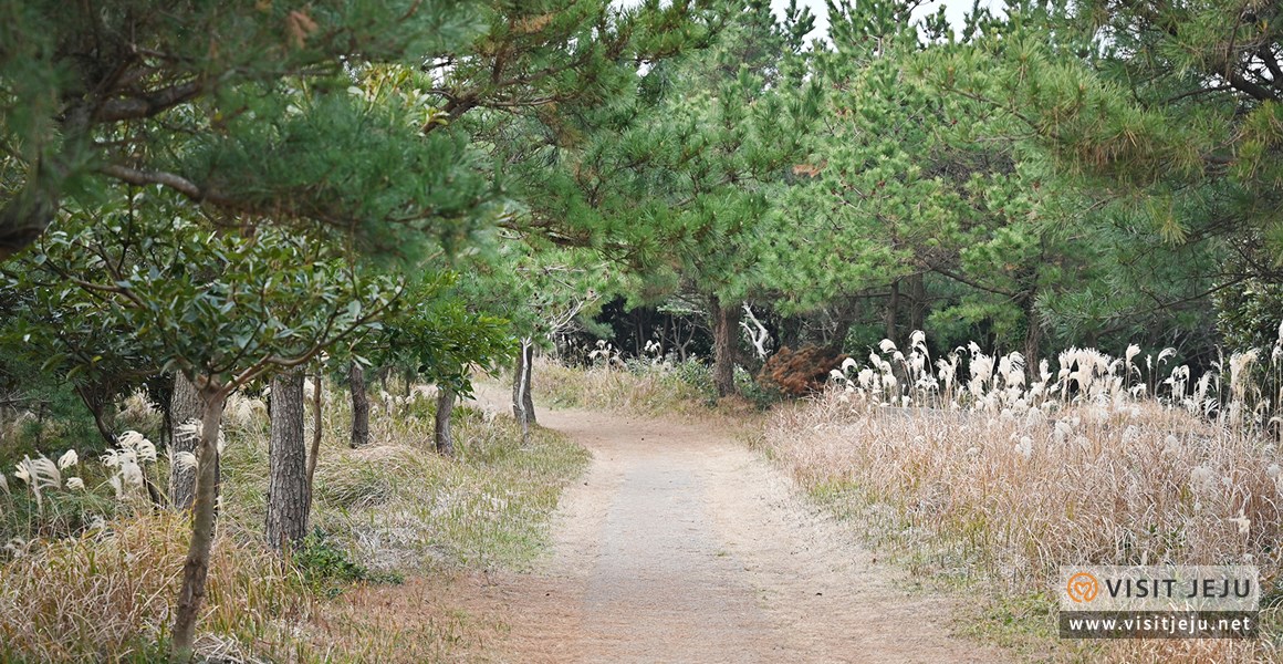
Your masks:
<svg viewBox="0 0 1283 664"><path fill-rule="evenodd" d="M268 447L267 543L287 551L308 533L307 442L303 435L303 374L272 379L272 433Z"/></svg>

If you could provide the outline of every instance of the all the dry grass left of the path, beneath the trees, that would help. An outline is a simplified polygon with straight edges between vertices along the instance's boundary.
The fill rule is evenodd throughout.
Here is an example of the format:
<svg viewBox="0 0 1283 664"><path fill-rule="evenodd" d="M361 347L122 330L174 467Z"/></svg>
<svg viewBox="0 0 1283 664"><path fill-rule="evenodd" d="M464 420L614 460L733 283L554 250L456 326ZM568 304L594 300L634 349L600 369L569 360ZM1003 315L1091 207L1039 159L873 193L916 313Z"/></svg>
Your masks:
<svg viewBox="0 0 1283 664"><path fill-rule="evenodd" d="M405 586L345 586L336 598L328 597L332 584L304 581L262 546L267 412L259 399L228 402L223 509L199 623L203 658L458 661L502 628L434 601L430 591L457 573L529 565L562 487L582 471L588 453L540 429L523 447L511 419L461 408L458 457L439 457L430 447L430 390L416 392L418 398L373 397L372 444L362 450L348 448L345 394L332 394L323 408L312 523L350 560L411 577ZM309 429L310 415L309 407ZM164 476L164 467L149 473ZM105 485L50 493L44 515L62 514L50 505L98 494L114 500ZM23 496L0 492L0 510ZM0 661L168 655L190 525L150 514L137 496L119 506L122 516L103 527L74 538L32 538L23 556L0 563ZM28 530L51 532L40 523Z"/></svg>

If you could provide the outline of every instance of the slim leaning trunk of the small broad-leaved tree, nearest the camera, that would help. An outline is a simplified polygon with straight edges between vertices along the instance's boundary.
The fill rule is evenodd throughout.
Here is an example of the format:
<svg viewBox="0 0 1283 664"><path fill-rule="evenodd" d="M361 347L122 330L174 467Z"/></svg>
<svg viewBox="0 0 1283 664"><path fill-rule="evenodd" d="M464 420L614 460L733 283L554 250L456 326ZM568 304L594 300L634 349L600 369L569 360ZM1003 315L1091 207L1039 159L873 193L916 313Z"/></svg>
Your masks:
<svg viewBox="0 0 1283 664"><path fill-rule="evenodd" d="M209 551L214 545L214 506L218 502L218 426L227 392L212 380L201 380L200 441L196 444L196 487L192 500L191 543L182 565L182 590L173 620L173 659L189 661L196 634L196 616L205 598Z"/></svg>

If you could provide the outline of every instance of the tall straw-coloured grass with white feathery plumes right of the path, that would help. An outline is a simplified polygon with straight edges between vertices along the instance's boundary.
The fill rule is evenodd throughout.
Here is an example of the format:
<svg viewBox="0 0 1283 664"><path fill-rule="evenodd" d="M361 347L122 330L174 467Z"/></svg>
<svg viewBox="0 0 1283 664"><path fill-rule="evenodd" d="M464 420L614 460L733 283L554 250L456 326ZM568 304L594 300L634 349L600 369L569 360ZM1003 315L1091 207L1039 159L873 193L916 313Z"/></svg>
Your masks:
<svg viewBox="0 0 1283 664"><path fill-rule="evenodd" d="M1060 565L1255 564L1268 605L1259 642L1061 654L1273 660L1283 459L1274 403L1250 379L1261 353L1233 354L1197 380L1188 366L1165 367L1171 354L1074 348L1053 367L971 344L933 362L915 333L907 354L883 342L866 363L835 370L825 394L776 412L765 444L916 572L990 588L994 602L1028 598L1037 610L1017 625L1044 641Z"/></svg>

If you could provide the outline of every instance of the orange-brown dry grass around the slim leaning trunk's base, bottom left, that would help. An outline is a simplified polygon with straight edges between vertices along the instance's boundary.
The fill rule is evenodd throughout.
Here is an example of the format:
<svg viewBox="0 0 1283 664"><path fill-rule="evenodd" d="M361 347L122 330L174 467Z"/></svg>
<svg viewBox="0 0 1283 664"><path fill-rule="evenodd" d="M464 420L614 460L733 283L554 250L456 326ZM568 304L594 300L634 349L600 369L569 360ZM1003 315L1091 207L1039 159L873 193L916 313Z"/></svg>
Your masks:
<svg viewBox="0 0 1283 664"><path fill-rule="evenodd" d="M190 533L172 514L122 518L0 568L0 659L163 658ZM210 563L200 650L227 650L214 634L253 642L272 622L304 615L309 600L300 590L269 554L222 536Z"/></svg>

